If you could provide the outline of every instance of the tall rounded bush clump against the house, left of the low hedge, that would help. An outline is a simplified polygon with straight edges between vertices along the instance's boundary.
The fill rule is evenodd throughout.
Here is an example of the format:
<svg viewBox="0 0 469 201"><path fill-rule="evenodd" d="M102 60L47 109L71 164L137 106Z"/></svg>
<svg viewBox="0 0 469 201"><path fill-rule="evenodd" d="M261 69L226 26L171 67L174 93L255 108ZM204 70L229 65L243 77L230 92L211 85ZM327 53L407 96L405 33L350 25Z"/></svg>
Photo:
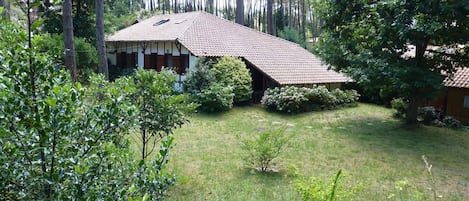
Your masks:
<svg viewBox="0 0 469 201"><path fill-rule="evenodd" d="M201 57L195 67L189 69L184 91L192 95L202 111L226 111L231 109L233 102L251 98L251 79L240 59Z"/></svg>

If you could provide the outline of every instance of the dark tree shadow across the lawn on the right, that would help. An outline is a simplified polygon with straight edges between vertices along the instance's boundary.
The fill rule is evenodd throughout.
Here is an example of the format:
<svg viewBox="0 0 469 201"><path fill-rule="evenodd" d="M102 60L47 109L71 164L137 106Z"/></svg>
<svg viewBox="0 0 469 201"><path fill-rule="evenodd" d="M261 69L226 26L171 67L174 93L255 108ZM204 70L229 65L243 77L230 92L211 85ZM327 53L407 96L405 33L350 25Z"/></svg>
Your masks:
<svg viewBox="0 0 469 201"><path fill-rule="evenodd" d="M407 126L399 121L354 118L333 123L333 133L372 151L429 155L469 163L468 134L463 131L423 125Z"/></svg>

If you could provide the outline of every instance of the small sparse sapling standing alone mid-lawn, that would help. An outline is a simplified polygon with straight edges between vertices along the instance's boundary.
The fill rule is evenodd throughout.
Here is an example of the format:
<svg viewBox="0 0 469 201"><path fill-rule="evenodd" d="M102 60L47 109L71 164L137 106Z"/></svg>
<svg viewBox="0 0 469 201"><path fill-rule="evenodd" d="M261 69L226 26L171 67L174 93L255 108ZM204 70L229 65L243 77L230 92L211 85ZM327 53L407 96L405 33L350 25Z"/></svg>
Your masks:
<svg viewBox="0 0 469 201"><path fill-rule="evenodd" d="M291 136L285 134L284 128L263 131L254 138L241 139L242 149L246 153L244 160L261 172L274 171L272 162L290 139Z"/></svg>

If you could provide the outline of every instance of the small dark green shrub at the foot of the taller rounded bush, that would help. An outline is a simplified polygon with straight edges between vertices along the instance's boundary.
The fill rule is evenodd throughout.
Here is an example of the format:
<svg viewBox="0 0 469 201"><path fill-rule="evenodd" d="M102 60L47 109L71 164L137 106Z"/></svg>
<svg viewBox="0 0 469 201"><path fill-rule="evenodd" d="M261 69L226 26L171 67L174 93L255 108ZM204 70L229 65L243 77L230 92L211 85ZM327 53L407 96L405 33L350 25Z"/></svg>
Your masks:
<svg viewBox="0 0 469 201"><path fill-rule="evenodd" d="M207 89L193 95L194 101L200 104L199 109L205 112L222 112L233 107L233 89L213 83Z"/></svg>

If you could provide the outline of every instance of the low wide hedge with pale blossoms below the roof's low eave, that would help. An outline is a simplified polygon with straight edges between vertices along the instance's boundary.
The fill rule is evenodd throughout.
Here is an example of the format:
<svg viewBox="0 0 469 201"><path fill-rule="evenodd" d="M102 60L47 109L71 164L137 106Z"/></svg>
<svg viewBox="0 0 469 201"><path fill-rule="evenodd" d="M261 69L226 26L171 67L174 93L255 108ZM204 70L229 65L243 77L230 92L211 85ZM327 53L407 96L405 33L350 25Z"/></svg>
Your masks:
<svg viewBox="0 0 469 201"><path fill-rule="evenodd" d="M324 86L313 88L285 86L267 89L261 103L270 110L296 113L354 105L358 97L359 94L355 90L334 89L330 92Z"/></svg>

